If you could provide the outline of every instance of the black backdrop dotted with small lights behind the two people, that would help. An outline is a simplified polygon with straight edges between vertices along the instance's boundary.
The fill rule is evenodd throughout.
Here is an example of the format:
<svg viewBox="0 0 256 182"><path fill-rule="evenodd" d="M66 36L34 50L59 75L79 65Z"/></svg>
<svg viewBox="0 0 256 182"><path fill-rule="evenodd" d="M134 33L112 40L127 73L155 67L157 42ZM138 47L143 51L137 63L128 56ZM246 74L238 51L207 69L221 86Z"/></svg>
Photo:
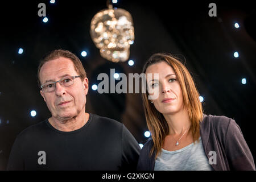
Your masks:
<svg viewBox="0 0 256 182"><path fill-rule="evenodd" d="M38 16L46 3L48 22ZM217 5L210 17L209 3ZM68 49L82 61L90 86L99 73L141 73L156 52L179 56L204 97L205 114L236 120L255 159L255 6L253 1L131 1L114 7L133 16L135 40L130 59L111 63L100 56L90 38L90 21L106 1L12 1L0 5L0 169L5 170L16 135L50 117L36 82L39 59L52 49ZM238 22L240 28L234 28ZM18 49L24 52L19 55ZM86 57L81 51L86 51ZM240 57L233 53L238 51ZM246 78L246 84L241 84ZM147 131L141 94L98 94L90 87L86 111L117 119L144 143ZM31 117L30 111L37 115Z"/></svg>

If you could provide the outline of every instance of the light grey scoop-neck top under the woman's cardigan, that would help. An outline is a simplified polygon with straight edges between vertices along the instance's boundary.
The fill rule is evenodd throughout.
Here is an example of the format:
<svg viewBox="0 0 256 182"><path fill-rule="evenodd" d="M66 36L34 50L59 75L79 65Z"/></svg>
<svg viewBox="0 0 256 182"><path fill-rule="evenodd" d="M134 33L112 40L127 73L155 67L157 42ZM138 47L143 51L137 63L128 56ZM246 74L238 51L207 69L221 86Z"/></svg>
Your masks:
<svg viewBox="0 0 256 182"><path fill-rule="evenodd" d="M155 160L155 171L212 171L208 158L204 152L201 137L199 142L176 151L162 152Z"/></svg>

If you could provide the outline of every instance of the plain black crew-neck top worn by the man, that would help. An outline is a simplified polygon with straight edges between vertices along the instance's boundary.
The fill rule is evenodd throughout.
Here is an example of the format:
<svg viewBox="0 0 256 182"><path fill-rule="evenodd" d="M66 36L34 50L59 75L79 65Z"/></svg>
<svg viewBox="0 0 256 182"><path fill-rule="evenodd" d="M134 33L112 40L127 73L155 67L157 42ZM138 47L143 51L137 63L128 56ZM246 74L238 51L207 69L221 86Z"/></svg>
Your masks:
<svg viewBox="0 0 256 182"><path fill-rule="evenodd" d="M7 170L135 170L140 150L113 119L90 114L84 126L70 132L56 130L46 119L18 135Z"/></svg>

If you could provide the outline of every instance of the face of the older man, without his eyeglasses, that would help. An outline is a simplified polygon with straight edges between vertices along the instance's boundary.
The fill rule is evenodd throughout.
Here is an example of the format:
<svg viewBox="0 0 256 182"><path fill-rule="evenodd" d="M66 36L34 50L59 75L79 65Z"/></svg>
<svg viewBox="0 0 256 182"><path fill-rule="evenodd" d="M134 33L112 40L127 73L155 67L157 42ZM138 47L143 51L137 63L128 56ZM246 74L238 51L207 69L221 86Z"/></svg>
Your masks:
<svg viewBox="0 0 256 182"><path fill-rule="evenodd" d="M45 63L40 69L39 76L43 85L48 81L58 81L63 77L79 75L70 59L59 57ZM85 78L84 81L75 78L73 81L73 85L68 87L63 87L57 82L53 92L40 90L53 118L66 120L76 117L81 112L85 113L88 78Z"/></svg>

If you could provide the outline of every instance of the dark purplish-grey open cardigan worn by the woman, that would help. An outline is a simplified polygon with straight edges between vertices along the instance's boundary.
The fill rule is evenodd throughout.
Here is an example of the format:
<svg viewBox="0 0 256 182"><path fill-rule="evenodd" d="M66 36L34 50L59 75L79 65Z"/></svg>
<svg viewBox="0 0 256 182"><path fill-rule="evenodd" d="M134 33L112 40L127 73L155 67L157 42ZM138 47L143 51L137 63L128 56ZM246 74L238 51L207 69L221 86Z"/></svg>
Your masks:
<svg viewBox="0 0 256 182"><path fill-rule="evenodd" d="M215 171L254 170L255 164L250 149L237 123L225 116L205 115L200 122L200 135L205 154L212 161L210 151L216 152L216 164L210 164ZM149 139L139 156L138 171L153 171L155 159L150 150L153 140Z"/></svg>

